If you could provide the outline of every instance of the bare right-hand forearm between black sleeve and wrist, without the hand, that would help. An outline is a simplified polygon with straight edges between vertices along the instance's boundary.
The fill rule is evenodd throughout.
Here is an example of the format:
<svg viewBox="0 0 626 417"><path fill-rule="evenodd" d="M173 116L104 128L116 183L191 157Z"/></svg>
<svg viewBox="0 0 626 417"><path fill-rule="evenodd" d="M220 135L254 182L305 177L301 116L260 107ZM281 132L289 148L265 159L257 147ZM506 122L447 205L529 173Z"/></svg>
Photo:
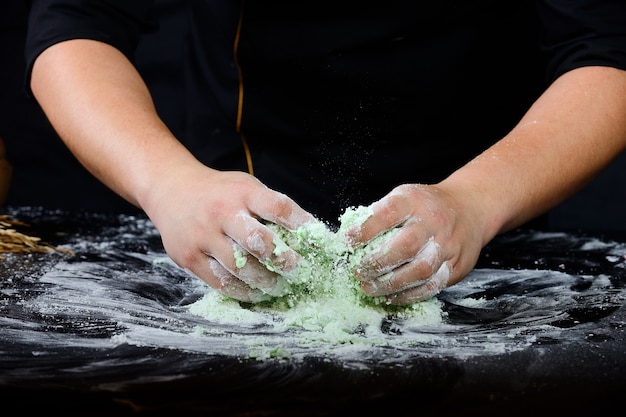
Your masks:
<svg viewBox="0 0 626 417"><path fill-rule="evenodd" d="M570 197L624 148L626 72L579 68L556 80L510 134L440 185L471 200L485 244Z"/></svg>

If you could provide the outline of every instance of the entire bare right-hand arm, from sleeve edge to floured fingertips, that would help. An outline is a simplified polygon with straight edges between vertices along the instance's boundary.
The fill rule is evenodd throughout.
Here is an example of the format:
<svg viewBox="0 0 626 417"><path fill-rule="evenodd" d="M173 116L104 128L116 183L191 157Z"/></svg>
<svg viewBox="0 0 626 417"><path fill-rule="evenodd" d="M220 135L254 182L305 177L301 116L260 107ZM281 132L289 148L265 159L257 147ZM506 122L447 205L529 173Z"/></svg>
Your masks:
<svg viewBox="0 0 626 417"><path fill-rule="evenodd" d="M404 304L459 282L494 236L571 196L625 148L626 71L565 73L506 137L444 181L402 185L374 203L350 232L355 242L403 227L364 259L364 291Z"/></svg>

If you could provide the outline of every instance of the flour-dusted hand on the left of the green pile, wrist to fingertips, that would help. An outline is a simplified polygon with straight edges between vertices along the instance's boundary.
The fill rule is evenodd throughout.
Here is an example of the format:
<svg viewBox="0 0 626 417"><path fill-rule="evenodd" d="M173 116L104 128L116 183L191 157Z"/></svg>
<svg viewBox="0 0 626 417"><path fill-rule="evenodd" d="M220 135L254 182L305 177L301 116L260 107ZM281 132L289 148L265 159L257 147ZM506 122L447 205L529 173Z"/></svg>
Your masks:
<svg viewBox="0 0 626 417"><path fill-rule="evenodd" d="M301 258L263 222L295 230L314 217L243 172L200 165L177 174L152 191L144 208L171 259L240 301L282 295L280 275L296 268Z"/></svg>

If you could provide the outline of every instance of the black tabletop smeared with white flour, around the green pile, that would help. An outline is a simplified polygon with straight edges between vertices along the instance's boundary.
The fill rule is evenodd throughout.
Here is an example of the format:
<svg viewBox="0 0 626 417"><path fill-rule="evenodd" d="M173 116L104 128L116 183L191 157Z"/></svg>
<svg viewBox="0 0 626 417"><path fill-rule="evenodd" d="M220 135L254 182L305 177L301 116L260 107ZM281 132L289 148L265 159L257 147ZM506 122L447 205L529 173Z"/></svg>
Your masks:
<svg viewBox="0 0 626 417"><path fill-rule="evenodd" d="M349 349L191 314L206 286L162 262L145 218L6 212L73 254L0 261L4 406L65 415L572 416L622 401L619 237L508 233L438 296L443 323L399 327L382 345ZM261 338L289 357L255 358Z"/></svg>

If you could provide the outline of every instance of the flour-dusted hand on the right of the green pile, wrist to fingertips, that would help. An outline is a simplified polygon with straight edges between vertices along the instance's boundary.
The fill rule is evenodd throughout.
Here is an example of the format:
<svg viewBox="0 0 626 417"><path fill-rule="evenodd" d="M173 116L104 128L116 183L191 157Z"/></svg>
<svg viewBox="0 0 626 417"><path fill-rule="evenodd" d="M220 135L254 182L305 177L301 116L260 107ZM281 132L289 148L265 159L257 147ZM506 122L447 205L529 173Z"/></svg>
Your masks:
<svg viewBox="0 0 626 417"><path fill-rule="evenodd" d="M346 232L353 246L397 230L354 271L365 294L413 303L459 282L476 265L483 246L480 217L443 187L401 185L370 208L373 214Z"/></svg>

